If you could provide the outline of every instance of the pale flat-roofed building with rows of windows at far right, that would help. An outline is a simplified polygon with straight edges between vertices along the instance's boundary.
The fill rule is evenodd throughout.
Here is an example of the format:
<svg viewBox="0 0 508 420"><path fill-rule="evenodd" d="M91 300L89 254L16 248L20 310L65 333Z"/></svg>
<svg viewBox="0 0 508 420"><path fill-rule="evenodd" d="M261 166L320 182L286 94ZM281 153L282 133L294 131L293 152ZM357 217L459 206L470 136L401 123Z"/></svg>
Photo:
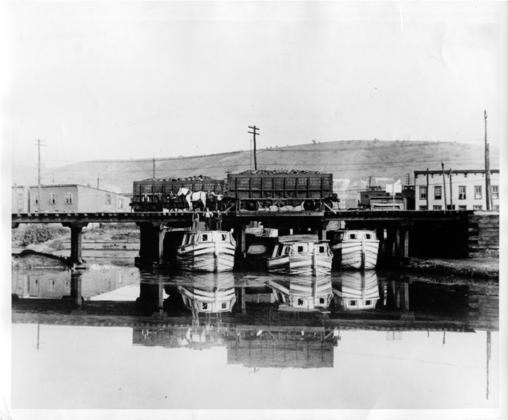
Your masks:
<svg viewBox="0 0 508 420"><path fill-rule="evenodd" d="M492 210L499 211L499 170L490 171ZM446 202L445 202L446 200ZM486 210L483 169L415 171L416 210Z"/></svg>

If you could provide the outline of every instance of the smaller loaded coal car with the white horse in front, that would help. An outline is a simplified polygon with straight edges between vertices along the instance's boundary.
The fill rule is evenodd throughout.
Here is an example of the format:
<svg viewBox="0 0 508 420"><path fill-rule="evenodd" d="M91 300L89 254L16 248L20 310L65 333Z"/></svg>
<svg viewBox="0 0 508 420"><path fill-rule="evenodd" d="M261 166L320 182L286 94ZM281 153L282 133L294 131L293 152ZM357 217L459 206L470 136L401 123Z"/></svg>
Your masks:
<svg viewBox="0 0 508 420"><path fill-rule="evenodd" d="M207 176L148 178L134 181L131 206L133 211L215 210L223 192L224 180Z"/></svg>

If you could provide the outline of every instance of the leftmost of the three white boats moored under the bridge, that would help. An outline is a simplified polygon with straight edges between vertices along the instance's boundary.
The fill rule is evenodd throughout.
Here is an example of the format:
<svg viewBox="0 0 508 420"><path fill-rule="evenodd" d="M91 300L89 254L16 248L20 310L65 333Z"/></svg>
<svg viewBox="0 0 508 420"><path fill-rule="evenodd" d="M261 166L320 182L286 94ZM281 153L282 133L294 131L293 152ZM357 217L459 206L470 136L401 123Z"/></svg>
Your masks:
<svg viewBox="0 0 508 420"><path fill-rule="evenodd" d="M236 242L231 232L204 230L185 233L176 252L178 267L190 271L231 271Z"/></svg>

